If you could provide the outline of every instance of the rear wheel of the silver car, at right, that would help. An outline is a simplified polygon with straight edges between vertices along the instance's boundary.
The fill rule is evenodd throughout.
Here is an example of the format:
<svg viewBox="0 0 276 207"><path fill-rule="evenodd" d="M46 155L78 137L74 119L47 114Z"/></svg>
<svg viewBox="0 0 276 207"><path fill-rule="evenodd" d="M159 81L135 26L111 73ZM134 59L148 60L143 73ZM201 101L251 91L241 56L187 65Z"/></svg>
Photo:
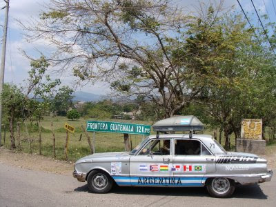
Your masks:
<svg viewBox="0 0 276 207"><path fill-rule="evenodd" d="M215 177L208 181L207 190L212 197L230 197L235 191L235 181L226 177Z"/></svg>

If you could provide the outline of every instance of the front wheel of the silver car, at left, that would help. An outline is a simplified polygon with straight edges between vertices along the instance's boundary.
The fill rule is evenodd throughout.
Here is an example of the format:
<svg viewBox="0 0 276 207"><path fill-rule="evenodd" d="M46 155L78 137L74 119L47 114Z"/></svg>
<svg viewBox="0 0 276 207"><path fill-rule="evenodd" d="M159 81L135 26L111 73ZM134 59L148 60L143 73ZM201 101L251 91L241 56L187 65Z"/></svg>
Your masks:
<svg viewBox="0 0 276 207"><path fill-rule="evenodd" d="M87 185L92 193L108 193L113 186L113 179L106 172L92 170L87 178Z"/></svg>

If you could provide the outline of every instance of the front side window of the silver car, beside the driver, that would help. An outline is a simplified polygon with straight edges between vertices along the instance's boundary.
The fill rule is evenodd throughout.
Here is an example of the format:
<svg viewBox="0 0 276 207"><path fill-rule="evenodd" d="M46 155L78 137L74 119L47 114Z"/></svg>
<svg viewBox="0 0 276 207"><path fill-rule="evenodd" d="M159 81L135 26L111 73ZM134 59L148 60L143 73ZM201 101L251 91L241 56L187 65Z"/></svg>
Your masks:
<svg viewBox="0 0 276 207"><path fill-rule="evenodd" d="M139 152L138 155L170 155L170 139L153 139Z"/></svg>

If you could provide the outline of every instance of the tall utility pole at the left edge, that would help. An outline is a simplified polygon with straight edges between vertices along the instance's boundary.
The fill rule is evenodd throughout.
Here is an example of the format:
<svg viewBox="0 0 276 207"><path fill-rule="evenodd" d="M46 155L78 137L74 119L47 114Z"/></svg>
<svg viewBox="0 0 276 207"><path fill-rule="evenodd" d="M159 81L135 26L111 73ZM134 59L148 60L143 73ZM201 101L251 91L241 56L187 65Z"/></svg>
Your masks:
<svg viewBox="0 0 276 207"><path fill-rule="evenodd" d="M2 43L2 57L1 57L1 68L0 68L0 94L3 90L4 85L4 74L5 74L5 59L6 59L6 44L7 44L7 31L8 31L8 10L9 10L9 1L4 0L6 2L6 6L2 9L6 8L6 15L5 15L5 25L3 29L3 43ZM2 104L0 101L0 146L1 146L1 138L2 138Z"/></svg>

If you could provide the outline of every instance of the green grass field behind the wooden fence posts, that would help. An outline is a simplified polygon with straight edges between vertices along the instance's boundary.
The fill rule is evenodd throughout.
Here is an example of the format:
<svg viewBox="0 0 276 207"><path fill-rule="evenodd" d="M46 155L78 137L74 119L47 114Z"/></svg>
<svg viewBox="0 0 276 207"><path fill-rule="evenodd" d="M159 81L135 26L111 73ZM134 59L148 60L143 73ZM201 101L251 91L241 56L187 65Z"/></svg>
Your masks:
<svg viewBox="0 0 276 207"><path fill-rule="evenodd" d="M88 119L78 119L76 121L68 120L66 117L45 117L41 121L41 126L43 126L43 130L41 133L42 137L42 155L47 157L52 157L52 132L51 132L51 121L53 121L53 129L55 130L56 137L56 155L57 159L63 159L64 145L66 142L66 130L63 128L64 124L70 124L75 127L75 133L70 134L69 138L69 147L68 147L68 160L76 161L77 159L90 155L90 150L88 146L88 141L86 135L83 133L81 129L81 125L86 128L86 121ZM136 120L121 120L121 119L109 119L102 121L117 121L117 122L126 122L133 124L150 124L153 123L151 121L136 121ZM15 132L14 132L15 133ZM155 134L155 132L151 132ZM16 134L16 133L15 133ZM81 141L79 141L80 135L82 134ZM213 131L208 128L204 130L204 134L213 135ZM39 153L39 134L37 130L30 133L31 137L34 138L34 142L32 144L32 151L36 154ZM92 138L92 132L88 132L88 135ZM132 142L132 148L135 148L137 144L141 141L141 135L130 135L130 140ZM115 152L115 151L124 151L124 135L119 133L108 133L108 132L96 132L96 152ZM2 132L2 144L3 144L3 132ZM17 143L17 135L16 135L16 143ZM230 136L231 148L234 149L235 145L235 136ZM221 144L224 144L224 137L221 140ZM10 133L6 132L6 141L4 146L6 148L10 148ZM30 152L28 139L26 133L21 131L21 147L23 152ZM18 150L18 149L17 149Z"/></svg>

